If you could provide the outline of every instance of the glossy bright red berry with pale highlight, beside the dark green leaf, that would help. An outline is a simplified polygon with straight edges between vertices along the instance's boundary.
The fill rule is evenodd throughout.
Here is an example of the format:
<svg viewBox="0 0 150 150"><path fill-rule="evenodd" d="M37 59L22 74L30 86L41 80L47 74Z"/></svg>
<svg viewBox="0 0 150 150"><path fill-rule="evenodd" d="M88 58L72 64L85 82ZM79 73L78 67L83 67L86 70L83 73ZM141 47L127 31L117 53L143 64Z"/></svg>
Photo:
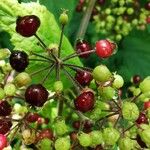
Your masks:
<svg viewBox="0 0 150 150"><path fill-rule="evenodd" d="M100 40L96 43L96 54L100 58L108 58L114 52L115 46L108 40Z"/></svg>

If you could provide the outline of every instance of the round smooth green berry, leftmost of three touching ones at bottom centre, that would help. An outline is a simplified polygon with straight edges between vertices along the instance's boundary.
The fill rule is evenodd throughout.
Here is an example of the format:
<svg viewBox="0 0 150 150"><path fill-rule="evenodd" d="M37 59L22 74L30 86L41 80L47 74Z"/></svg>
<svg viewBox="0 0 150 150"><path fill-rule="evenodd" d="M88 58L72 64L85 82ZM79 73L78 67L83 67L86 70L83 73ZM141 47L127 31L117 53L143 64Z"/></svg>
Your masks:
<svg viewBox="0 0 150 150"><path fill-rule="evenodd" d="M87 133L82 132L80 135L78 135L78 140L80 145L83 147L88 147L92 144L92 138L90 134Z"/></svg>

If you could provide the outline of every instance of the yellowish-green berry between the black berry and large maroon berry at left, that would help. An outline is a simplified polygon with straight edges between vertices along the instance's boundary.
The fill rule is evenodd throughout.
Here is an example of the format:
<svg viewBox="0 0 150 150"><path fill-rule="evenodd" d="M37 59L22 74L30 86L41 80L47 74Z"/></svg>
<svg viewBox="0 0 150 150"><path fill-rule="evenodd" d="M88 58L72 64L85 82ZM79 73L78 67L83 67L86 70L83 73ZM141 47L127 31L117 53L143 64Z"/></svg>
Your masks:
<svg viewBox="0 0 150 150"><path fill-rule="evenodd" d="M26 72L19 73L15 78L15 84L18 87L26 86L31 83L31 77Z"/></svg>

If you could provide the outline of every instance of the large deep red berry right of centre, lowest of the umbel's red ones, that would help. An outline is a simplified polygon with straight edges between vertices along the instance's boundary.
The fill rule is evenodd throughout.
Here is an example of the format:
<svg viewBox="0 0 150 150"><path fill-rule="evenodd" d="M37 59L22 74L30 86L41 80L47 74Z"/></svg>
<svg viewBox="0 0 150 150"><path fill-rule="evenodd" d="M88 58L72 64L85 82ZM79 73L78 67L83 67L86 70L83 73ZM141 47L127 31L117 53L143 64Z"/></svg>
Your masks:
<svg viewBox="0 0 150 150"><path fill-rule="evenodd" d="M75 100L75 108L81 112L87 112L94 107L94 94L91 91L83 92Z"/></svg>

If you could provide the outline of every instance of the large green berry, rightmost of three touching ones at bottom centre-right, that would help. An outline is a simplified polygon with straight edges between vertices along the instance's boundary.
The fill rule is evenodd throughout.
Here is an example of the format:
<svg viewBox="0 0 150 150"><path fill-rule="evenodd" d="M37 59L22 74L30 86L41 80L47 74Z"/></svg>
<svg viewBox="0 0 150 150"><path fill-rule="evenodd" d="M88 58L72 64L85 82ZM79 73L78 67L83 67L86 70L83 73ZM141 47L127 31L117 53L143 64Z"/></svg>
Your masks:
<svg viewBox="0 0 150 150"><path fill-rule="evenodd" d="M107 145L114 145L120 137L119 131L115 128L108 127L103 131L103 140Z"/></svg>

